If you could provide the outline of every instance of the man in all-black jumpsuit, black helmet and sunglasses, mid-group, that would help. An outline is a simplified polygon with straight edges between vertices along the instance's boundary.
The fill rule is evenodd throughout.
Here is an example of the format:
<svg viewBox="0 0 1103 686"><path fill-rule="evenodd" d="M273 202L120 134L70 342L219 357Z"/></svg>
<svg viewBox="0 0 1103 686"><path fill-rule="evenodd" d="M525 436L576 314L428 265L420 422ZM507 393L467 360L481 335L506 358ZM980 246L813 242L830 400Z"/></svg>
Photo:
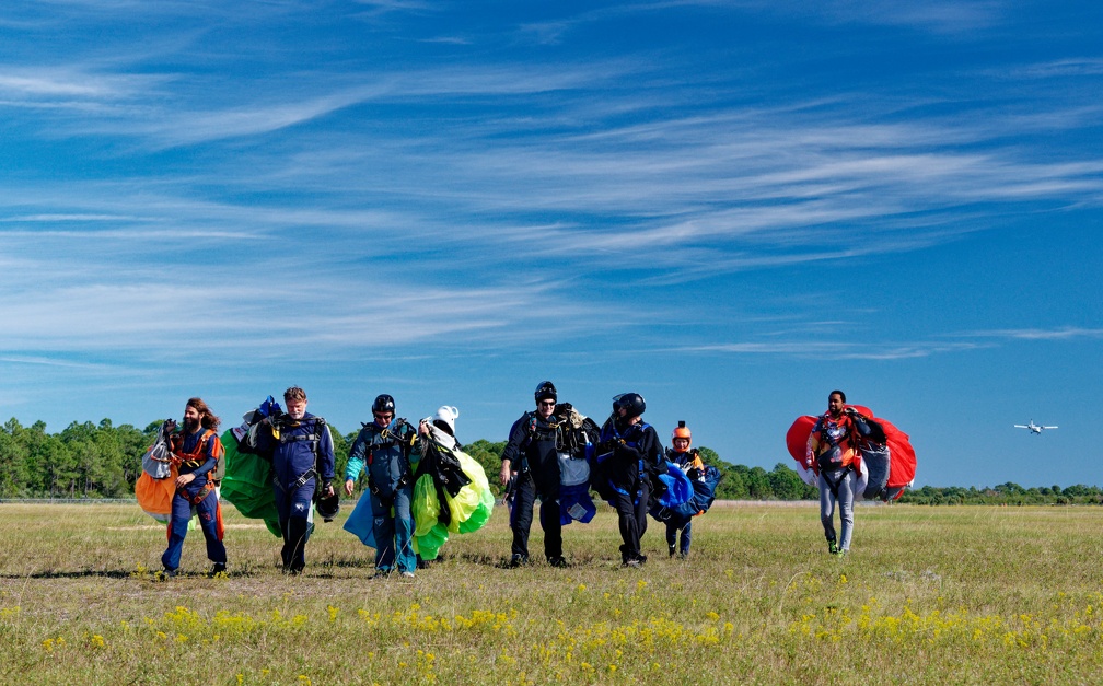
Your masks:
<svg viewBox="0 0 1103 686"><path fill-rule="evenodd" d="M510 566L528 564L528 532L533 506L540 497L540 528L548 565L566 567L563 557L563 523L559 519L559 455L556 450L558 421L554 414L558 392L552 382L540 382L533 394L536 411L527 411L513 422L502 451L502 485L514 480L514 502L510 512L513 530Z"/></svg>

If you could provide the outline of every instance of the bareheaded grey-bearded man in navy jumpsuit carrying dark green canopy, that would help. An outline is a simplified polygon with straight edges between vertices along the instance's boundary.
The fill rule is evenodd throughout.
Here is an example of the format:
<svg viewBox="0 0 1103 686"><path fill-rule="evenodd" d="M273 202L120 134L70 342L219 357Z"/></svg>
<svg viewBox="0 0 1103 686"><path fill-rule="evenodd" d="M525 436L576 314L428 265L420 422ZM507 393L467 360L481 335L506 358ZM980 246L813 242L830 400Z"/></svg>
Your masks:
<svg viewBox="0 0 1103 686"><path fill-rule="evenodd" d="M257 453L271 455L272 490L279 513L286 574L301 574L313 528L311 505L321 480L322 497L333 496L333 437L325 420L307 412L307 392L292 386L283 392L287 411L266 417L257 435Z"/></svg>

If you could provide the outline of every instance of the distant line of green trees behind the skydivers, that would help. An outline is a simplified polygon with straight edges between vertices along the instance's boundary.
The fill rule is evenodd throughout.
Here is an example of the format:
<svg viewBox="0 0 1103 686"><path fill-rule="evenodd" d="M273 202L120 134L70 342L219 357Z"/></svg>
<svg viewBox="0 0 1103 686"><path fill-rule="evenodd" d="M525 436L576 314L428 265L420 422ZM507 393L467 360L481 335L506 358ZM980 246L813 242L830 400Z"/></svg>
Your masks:
<svg viewBox="0 0 1103 686"><path fill-rule="evenodd" d="M14 418L0 429L0 497L65 497L105 499L130 497L141 474L141 455L153 442L162 420L144 429L130 425L113 426L110 419L99 424L74 421L58 433L47 433L46 425L36 421L22 426ZM356 432L333 430L338 480L344 475L349 450ZM476 440L464 450L479 461L500 490L497 472L505 441ZM720 500L816 500L818 491L805 484L784 462L773 470L733 464L709 448L700 448L702 460L724 473L717 489ZM363 484L360 484L363 486ZM1103 490L1078 484L1061 489L1024 489L1004 483L992 489L961 486L923 486L906 491L901 503L919 505L1041 505L1103 504Z"/></svg>

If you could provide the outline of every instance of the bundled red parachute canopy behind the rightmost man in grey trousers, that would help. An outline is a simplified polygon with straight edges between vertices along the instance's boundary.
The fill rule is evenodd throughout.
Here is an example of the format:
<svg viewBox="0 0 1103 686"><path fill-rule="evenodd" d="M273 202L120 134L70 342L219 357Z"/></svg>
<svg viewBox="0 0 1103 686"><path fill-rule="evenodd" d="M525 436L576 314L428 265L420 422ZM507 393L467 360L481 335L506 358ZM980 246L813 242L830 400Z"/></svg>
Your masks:
<svg viewBox="0 0 1103 686"><path fill-rule="evenodd" d="M847 407L854 408L864 417L878 424L885 430L886 438L885 447L887 450L876 444L871 447L871 450L861 450L863 465L857 489L858 494L864 495L867 500L872 497L879 497L884 501L897 500L915 479L915 450L911 447L908 435L896 428L890 421L875 417L874 411L868 407L860 405L847 405ZM817 417L808 415L797 417L785 433L785 446L789 448L789 454L796 460L796 471L801 479L808 484L814 484L816 478L811 469L804 467L804 457L808 436L812 435L812 428L816 425L817 419ZM874 492L866 492L870 473L884 473L885 468L888 469L888 479L884 486L878 483Z"/></svg>

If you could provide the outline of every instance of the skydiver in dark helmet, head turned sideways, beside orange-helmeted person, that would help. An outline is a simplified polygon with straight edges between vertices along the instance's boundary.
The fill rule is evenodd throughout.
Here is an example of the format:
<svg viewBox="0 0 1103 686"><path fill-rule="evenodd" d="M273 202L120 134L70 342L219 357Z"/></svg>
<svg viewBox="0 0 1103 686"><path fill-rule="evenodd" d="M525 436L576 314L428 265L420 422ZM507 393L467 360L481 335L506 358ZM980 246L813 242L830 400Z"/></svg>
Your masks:
<svg viewBox="0 0 1103 686"><path fill-rule="evenodd" d="M598 443L598 467L608 487L599 489L609 496L617 510L623 544L621 562L641 567L647 556L640 549L640 538L647 530L647 505L651 483L658 473L663 446L655 429L643 421L647 405L638 393L613 398L613 414L601 427ZM604 486L606 484L602 484Z"/></svg>

